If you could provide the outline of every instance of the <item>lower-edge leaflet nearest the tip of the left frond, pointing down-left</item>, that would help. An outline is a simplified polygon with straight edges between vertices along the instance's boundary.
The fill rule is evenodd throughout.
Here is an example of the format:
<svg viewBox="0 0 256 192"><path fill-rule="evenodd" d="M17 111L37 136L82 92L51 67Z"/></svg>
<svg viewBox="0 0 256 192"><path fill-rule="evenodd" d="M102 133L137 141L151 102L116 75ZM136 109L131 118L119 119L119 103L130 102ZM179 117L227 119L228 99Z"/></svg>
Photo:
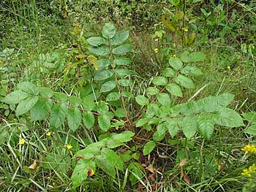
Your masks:
<svg viewBox="0 0 256 192"><path fill-rule="evenodd" d="M29 110L32 109L32 107L34 107L37 101L38 101L37 96L29 96L25 100L20 101L16 109L16 115L20 116L28 112Z"/></svg>

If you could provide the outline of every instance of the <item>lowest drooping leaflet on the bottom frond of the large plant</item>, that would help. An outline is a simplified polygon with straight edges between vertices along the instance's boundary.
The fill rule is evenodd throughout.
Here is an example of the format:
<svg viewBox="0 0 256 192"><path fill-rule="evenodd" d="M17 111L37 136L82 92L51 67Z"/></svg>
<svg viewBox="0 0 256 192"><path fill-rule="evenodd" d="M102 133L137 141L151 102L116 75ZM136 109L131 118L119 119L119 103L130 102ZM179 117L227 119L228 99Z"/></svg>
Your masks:
<svg viewBox="0 0 256 192"><path fill-rule="evenodd" d="M94 172L96 171L94 161L91 161L91 159L80 159L78 161L78 164L75 165L75 169L71 176L73 189L76 189L78 186L83 184L83 181L88 177L89 169L92 169Z"/></svg>

